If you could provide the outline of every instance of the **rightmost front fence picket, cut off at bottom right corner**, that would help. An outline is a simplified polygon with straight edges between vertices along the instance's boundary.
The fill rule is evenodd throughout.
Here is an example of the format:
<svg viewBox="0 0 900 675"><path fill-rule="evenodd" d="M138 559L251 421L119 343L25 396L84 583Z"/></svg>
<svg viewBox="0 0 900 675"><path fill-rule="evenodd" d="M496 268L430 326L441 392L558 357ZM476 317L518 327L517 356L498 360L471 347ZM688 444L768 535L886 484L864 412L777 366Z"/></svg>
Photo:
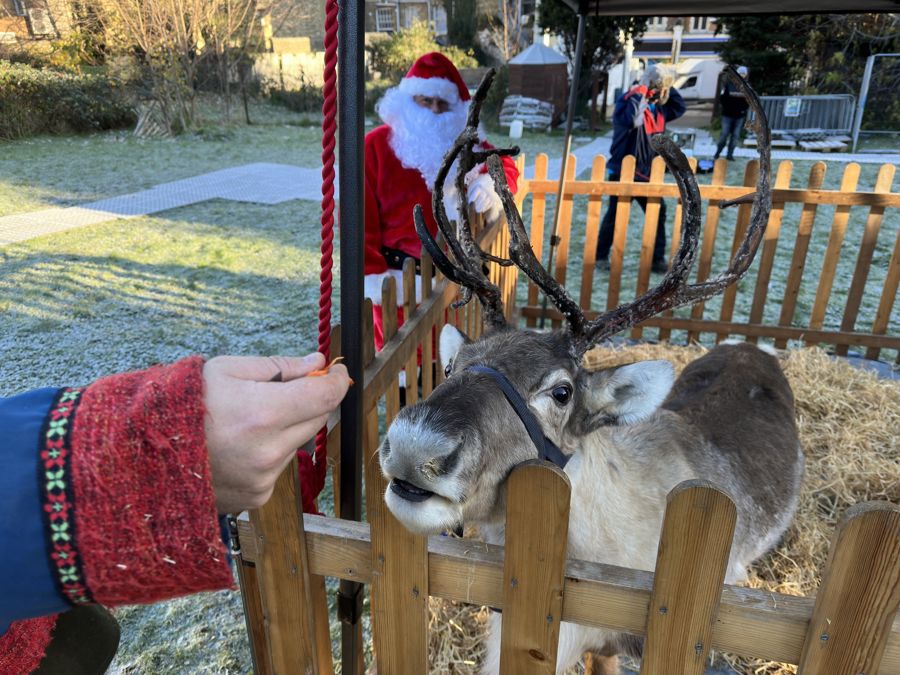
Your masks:
<svg viewBox="0 0 900 675"><path fill-rule="evenodd" d="M866 502L835 530L800 673L875 675L900 604L900 507Z"/></svg>

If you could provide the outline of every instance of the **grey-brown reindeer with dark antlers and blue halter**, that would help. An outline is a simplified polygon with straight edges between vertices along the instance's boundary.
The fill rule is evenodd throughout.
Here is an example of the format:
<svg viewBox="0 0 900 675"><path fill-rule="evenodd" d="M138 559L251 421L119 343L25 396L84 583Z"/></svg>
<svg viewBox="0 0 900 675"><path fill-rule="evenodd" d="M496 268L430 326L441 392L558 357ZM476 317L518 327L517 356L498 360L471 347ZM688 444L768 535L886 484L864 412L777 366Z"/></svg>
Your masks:
<svg viewBox="0 0 900 675"><path fill-rule="evenodd" d="M494 151L472 150L490 75L482 82L467 129L435 181L433 208L455 264L428 233L421 208L415 219L436 266L463 287L460 302L477 295L490 329L476 342L453 326L443 329L439 352L446 381L426 401L400 412L379 449L389 480L387 506L407 528L437 533L465 522L477 525L487 541L502 543L504 480L520 462L542 457L564 467L571 483L569 557L653 570L666 495L691 478L716 484L737 506L727 582L745 578L747 566L781 537L797 505L803 454L793 395L774 355L746 343L720 345L677 380L666 361L599 372L582 367L585 352L601 340L665 309L712 297L750 266L771 208L770 139L755 95L731 75L760 121L760 178L745 241L719 277L686 282L697 250L700 193L684 155L657 137L683 205L679 250L659 286L590 321L535 257ZM458 232L448 222L440 186L457 157L458 182L475 163L487 161L506 212L510 260L481 251L465 208L459 209ZM485 261L515 263L556 305L567 328L507 326L500 291L483 272ZM485 673L499 671L500 621L495 613ZM631 636L563 623L557 672L593 651L603 655L595 663L615 673L615 655L639 655L640 648Z"/></svg>

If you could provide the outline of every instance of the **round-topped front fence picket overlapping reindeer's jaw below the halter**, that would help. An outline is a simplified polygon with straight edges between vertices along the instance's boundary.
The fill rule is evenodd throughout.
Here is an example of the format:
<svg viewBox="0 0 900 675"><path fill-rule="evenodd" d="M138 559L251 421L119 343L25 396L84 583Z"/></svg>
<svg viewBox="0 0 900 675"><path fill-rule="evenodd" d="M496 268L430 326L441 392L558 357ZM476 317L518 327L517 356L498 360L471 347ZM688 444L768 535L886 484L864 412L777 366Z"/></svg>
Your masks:
<svg viewBox="0 0 900 675"><path fill-rule="evenodd" d="M500 672L555 673L569 536L569 479L530 460L507 481Z"/></svg>

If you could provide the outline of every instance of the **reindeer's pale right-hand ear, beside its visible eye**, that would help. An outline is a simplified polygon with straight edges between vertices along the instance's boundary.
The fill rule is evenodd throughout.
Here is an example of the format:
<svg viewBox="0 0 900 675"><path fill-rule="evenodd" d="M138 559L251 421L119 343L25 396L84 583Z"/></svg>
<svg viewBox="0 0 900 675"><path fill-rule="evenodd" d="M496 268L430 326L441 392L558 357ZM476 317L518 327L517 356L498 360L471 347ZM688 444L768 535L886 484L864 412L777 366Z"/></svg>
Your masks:
<svg viewBox="0 0 900 675"><path fill-rule="evenodd" d="M662 405L674 379L668 361L641 361L589 374L585 403L591 426L647 419Z"/></svg>

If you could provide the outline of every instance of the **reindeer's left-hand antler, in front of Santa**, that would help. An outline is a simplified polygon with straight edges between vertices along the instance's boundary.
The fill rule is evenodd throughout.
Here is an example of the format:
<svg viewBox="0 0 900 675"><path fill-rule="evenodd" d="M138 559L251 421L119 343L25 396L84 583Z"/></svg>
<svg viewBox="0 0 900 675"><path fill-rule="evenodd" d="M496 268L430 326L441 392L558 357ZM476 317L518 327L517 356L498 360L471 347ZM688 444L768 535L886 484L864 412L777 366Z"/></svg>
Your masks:
<svg viewBox="0 0 900 675"><path fill-rule="evenodd" d="M474 99L469 107L466 128L457 136L450 150L444 155L441 168L438 170L434 180L431 208L438 229L444 235L447 247L456 260L456 264L441 250L434 237L431 236L431 232L428 231L428 226L425 223L422 207L419 204L416 204L413 210L413 220L416 225L416 233L419 235L419 239L421 239L425 249L431 255L435 266L450 281L459 284L463 289L462 298L453 303L453 306L461 307L465 305L472 299L474 293L484 307L485 321L494 328L502 328L506 327L507 324L503 314L503 298L500 289L485 276L481 266L485 260L500 265L512 265L512 261L492 256L481 250L475 242L475 238L472 236L472 227L469 223L468 209L466 208L465 183L466 174L477 164L492 157L515 155L519 152L519 149L516 147L506 149L493 148L484 151L475 151L474 149L479 141L478 120L481 115L481 106L484 103L495 74L496 70L492 68L482 78L481 84L478 85L478 90L475 92ZM459 158L459 161L455 182L459 224L457 228L454 228L444 208L444 182L447 180L447 175L450 173L450 169L457 158Z"/></svg>

